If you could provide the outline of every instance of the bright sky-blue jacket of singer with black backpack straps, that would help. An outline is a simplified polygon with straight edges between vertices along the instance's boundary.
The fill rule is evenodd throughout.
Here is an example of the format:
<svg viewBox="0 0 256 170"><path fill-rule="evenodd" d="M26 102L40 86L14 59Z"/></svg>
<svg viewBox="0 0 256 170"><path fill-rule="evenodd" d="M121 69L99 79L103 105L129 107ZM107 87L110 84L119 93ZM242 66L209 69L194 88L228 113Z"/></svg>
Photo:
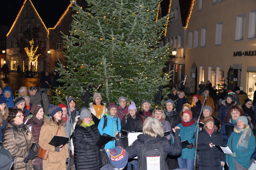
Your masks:
<svg viewBox="0 0 256 170"><path fill-rule="evenodd" d="M104 118L102 117L99 121L98 129L99 133L102 135L103 133L110 135L110 136L115 136L115 132L117 131L117 126L116 126L116 119L118 121L118 133L121 131L121 123L119 117L113 118L113 116L109 116L107 112L105 112L105 115L107 116L107 125L103 129L104 125ZM110 141L107 144L105 144L106 149L112 149L115 147L115 140Z"/></svg>

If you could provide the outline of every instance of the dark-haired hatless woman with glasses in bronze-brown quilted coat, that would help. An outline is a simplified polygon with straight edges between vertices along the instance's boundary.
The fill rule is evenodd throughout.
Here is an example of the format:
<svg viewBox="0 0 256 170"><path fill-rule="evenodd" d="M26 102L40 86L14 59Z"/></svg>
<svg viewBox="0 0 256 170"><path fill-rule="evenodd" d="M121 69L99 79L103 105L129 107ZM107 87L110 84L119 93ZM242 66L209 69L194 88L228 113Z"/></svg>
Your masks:
<svg viewBox="0 0 256 170"><path fill-rule="evenodd" d="M12 109L6 120L3 136L3 146L14 157L14 170L32 170L32 159L38 155L38 149L29 150L35 143L34 137L29 128L23 123L24 114L19 108ZM28 163L25 159L28 158Z"/></svg>

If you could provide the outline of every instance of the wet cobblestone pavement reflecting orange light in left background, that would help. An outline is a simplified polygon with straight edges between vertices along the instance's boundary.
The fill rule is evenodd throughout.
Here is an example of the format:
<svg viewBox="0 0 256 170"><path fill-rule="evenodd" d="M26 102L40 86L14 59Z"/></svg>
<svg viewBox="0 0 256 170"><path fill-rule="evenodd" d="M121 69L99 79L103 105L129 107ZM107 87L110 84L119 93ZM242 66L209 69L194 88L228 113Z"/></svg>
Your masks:
<svg viewBox="0 0 256 170"><path fill-rule="evenodd" d="M30 86L39 85L41 87L40 79L41 74L38 77L34 78L25 78L20 76L16 72L10 72L8 78L3 77L3 72L0 72L0 86L4 88L5 86L10 86L12 88L12 95L14 95L15 91L19 90L21 86L26 86L29 88ZM50 75L51 80L53 80L53 75ZM49 95L53 96L53 92L49 91Z"/></svg>

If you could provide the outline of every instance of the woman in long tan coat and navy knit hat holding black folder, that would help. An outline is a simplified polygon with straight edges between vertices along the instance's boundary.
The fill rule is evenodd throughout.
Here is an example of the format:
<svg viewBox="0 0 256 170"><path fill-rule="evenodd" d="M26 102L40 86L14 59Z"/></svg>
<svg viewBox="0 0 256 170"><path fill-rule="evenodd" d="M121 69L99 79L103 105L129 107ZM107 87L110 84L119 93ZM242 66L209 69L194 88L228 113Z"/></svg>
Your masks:
<svg viewBox="0 0 256 170"><path fill-rule="evenodd" d="M65 120L61 118L62 109L59 106L49 104L48 113L49 117L44 117L44 124L41 127L39 136L39 146L49 151L47 160L43 160L43 169L66 169L66 158L68 158L67 144L58 147L49 144L54 135L66 136Z"/></svg>

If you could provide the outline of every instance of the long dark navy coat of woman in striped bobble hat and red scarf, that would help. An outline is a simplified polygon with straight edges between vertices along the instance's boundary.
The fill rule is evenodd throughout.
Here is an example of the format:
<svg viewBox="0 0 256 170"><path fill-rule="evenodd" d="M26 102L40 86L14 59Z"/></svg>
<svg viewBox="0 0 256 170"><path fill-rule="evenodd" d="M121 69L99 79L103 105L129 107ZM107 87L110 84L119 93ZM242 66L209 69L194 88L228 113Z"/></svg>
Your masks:
<svg viewBox="0 0 256 170"><path fill-rule="evenodd" d="M221 161L225 162L225 154L216 147L210 147L210 143L216 146L224 146L220 132L213 131L211 135L205 129L198 133L197 150L200 151L200 170L222 170Z"/></svg>

